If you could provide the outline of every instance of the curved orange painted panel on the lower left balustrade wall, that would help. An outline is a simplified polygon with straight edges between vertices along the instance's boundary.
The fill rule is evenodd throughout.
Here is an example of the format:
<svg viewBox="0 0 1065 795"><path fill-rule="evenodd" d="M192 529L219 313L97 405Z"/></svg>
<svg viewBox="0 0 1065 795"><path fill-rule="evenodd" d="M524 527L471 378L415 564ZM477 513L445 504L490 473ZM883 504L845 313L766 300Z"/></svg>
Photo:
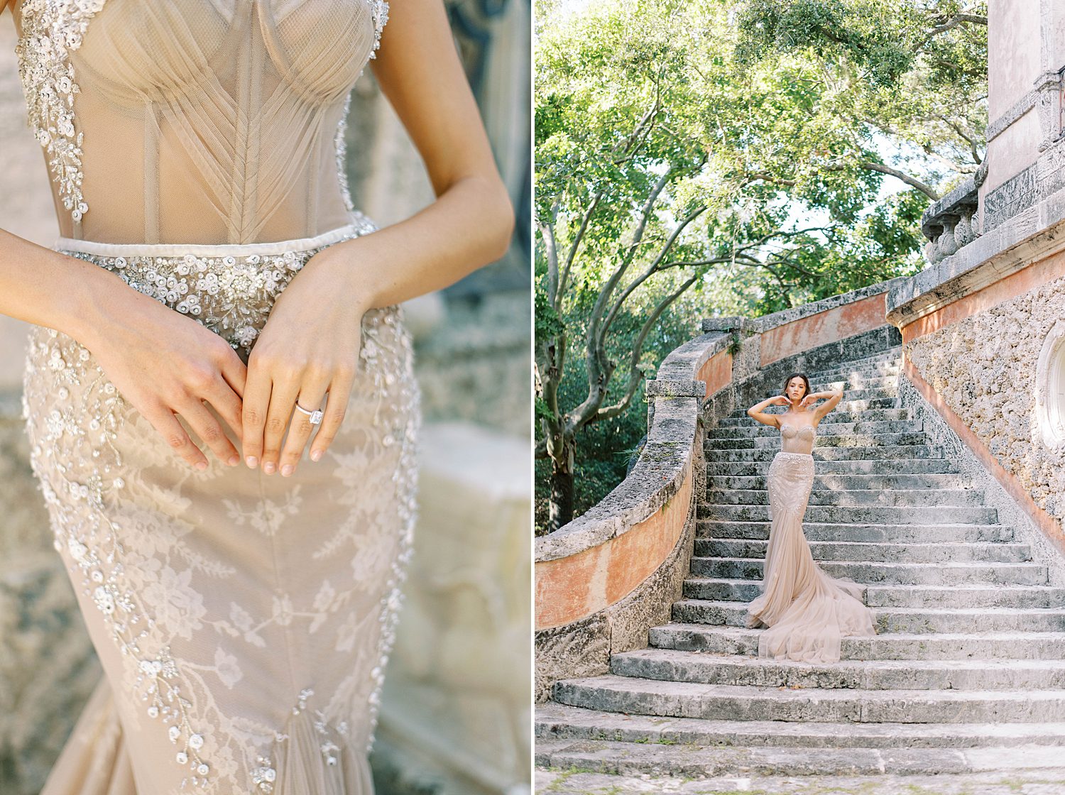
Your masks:
<svg viewBox="0 0 1065 795"><path fill-rule="evenodd" d="M536 629L594 615L628 596L676 548L691 506L694 467L652 516L612 539L567 558L536 564Z"/></svg>

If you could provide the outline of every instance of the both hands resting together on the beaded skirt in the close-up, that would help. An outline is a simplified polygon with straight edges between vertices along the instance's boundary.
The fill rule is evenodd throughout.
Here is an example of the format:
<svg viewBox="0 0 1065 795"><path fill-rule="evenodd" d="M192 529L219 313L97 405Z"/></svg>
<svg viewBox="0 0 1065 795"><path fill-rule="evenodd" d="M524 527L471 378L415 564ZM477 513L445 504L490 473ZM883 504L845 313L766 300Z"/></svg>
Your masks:
<svg viewBox="0 0 1065 795"><path fill-rule="evenodd" d="M305 263L275 300L247 366L222 336L132 289L121 293L128 300L109 313L105 331L89 329L82 338L122 396L190 465L206 469L208 461L179 414L228 465L244 458L266 475L291 475L314 429L296 402L313 411L328 393L312 461L329 448L346 413L362 317L374 301L353 267L357 239L323 249ZM223 421L233 429L241 452Z"/></svg>

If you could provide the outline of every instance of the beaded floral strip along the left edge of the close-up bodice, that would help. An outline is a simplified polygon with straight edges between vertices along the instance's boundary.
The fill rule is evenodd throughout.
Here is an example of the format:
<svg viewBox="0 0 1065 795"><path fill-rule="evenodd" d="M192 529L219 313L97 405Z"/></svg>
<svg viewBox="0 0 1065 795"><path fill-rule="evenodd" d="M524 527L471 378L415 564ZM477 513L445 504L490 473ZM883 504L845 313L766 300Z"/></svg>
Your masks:
<svg viewBox="0 0 1065 795"><path fill-rule="evenodd" d="M48 153L63 206L80 229L88 204L81 193L82 133L73 114L75 80L69 53L81 47L88 22L104 0L23 0L22 35L15 45L29 126ZM75 235L78 236L78 235Z"/></svg>

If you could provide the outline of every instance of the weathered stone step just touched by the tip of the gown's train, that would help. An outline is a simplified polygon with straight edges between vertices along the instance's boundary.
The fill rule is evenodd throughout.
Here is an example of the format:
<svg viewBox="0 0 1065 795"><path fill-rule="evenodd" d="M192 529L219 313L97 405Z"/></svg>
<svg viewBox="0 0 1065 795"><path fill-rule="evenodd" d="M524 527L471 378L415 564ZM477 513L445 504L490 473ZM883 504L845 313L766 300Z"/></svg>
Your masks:
<svg viewBox="0 0 1065 795"><path fill-rule="evenodd" d="M638 679L752 688L1065 689L1065 660L841 660L817 665L651 648L612 655L610 673Z"/></svg>

